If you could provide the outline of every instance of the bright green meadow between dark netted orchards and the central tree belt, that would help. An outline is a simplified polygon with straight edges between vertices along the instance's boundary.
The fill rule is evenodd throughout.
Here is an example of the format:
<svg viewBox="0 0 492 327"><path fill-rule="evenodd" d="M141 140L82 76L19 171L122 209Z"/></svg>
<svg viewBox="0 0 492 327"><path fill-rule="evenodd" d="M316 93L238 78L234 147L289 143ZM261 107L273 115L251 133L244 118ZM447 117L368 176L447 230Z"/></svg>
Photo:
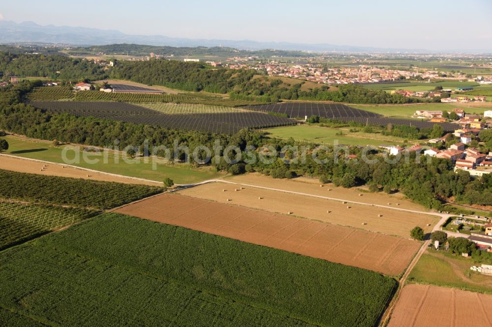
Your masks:
<svg viewBox="0 0 492 327"><path fill-rule="evenodd" d="M307 140L309 142L334 144L338 139L338 144L345 145L373 145L380 144L402 144L403 139L392 136L382 136L380 134L367 134L362 132L349 133L348 129L337 129L329 127L319 127L310 125L296 125L286 127L276 127L264 130L270 137L289 138L296 140ZM338 132L343 135L336 135Z"/></svg>

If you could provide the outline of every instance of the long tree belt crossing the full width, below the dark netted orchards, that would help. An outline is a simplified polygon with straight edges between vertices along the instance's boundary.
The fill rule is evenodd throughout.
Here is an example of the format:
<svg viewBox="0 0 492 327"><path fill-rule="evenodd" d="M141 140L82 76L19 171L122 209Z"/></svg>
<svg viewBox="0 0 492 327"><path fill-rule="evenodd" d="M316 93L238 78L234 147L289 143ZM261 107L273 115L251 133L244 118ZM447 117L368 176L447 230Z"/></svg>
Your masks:
<svg viewBox="0 0 492 327"><path fill-rule="evenodd" d="M374 151L369 153L368 158L378 159L378 163L367 164L357 160L345 161L344 151L339 151L337 157L340 157L340 160L335 162L334 149L328 148L318 152L318 159L326 159L326 163L320 164L316 163L310 155L316 145L296 142L293 139L269 139L258 131L242 130L234 136L211 135L106 119L81 118L66 113L49 114L22 103L23 97L34 86L34 82L27 82L0 89L0 130L46 140L58 139L97 146L111 146L114 139L118 138L121 142L120 148L130 144L143 144L145 139L149 140L150 147L166 145L169 148L172 148L173 141L178 139L180 144L187 145L191 149L197 145L205 145L213 149L215 139L218 139L223 147L235 145L242 151L246 151L246 146L264 149L269 145L276 150L280 150L285 145L306 146L308 155L305 163L289 164L277 158L269 164L261 163L259 160L254 164L246 164L245 158L258 158L260 151L256 150L244 153L243 160L236 164L228 164L223 159L218 162L213 160L211 164L217 170L229 171L233 174L257 171L275 178L307 175L319 177L322 181L332 180L343 187L368 184L371 191L402 190L409 198L435 209L440 209L442 206L439 198L452 196L463 203L491 204L492 175L484 175L473 180L465 171L455 173L451 162L447 160L434 158L428 162L423 159L421 163L415 160L408 162L400 160L396 164L388 164ZM351 154L360 154L361 151L357 147L350 148ZM229 155L232 158L235 154ZM288 153L286 158L289 158ZM183 153L178 160L182 159L184 159ZM198 165L191 157L189 162Z"/></svg>

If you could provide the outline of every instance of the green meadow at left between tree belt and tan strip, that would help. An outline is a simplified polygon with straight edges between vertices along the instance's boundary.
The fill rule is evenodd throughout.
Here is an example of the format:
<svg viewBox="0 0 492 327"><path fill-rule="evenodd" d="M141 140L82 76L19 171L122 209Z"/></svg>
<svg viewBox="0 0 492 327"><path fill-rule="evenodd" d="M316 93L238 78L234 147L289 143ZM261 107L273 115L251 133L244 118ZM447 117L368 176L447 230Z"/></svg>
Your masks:
<svg viewBox="0 0 492 327"><path fill-rule="evenodd" d="M187 164L156 164L156 170L153 170L152 163L144 163L141 158L140 163L127 164L123 162L121 156L118 156L118 162L113 153L108 156L108 162L103 163L101 156L91 155L86 153L89 159L99 159L99 163L90 164L82 160L82 151L67 151L67 158L75 158L76 153L80 155L79 163L64 163L62 160L62 149L64 147L72 147L71 145L54 147L49 142L34 141L18 136L6 136L9 149L5 154L11 154L24 158L38 159L59 164L73 164L75 166L99 170L103 172L119 174L130 177L145 178L154 181L162 181L169 177L176 184L189 184L215 179L224 176L224 173L215 172L212 168L203 167L200 169L192 168Z"/></svg>

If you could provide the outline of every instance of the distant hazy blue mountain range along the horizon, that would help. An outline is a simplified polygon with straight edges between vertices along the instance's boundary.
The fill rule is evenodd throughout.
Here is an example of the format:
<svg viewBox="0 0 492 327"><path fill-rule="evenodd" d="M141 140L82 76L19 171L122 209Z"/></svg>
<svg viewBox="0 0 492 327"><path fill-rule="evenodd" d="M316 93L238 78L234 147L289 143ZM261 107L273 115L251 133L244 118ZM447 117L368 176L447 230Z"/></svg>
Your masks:
<svg viewBox="0 0 492 327"><path fill-rule="evenodd" d="M167 37L163 35L129 35L118 30L89 27L41 26L33 22L15 23L0 21L0 43L48 43L76 46L104 45L113 43L136 43L173 47L231 47L240 50L293 50L313 52L429 52L423 49L372 48L339 46L333 44L298 44L289 42L258 42L251 40L207 40Z"/></svg>

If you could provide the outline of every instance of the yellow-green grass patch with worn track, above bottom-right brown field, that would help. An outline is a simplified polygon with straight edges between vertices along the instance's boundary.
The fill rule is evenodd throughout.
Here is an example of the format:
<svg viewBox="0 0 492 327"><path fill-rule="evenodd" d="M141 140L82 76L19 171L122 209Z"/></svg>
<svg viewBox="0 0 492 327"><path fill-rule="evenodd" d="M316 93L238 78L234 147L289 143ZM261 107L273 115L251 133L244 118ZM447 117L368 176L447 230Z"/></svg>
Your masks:
<svg viewBox="0 0 492 327"><path fill-rule="evenodd" d="M473 259L445 251L428 251L408 276L410 282L492 294L492 277L472 272L471 266L480 266Z"/></svg>

